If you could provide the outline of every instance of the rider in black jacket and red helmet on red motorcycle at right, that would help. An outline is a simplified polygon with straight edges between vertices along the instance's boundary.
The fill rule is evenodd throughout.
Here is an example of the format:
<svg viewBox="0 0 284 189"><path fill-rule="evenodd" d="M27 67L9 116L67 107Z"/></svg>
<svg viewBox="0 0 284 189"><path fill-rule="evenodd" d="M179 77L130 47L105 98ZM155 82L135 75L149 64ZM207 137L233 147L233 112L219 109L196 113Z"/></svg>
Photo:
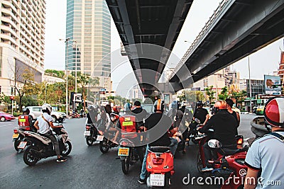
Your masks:
<svg viewBox="0 0 284 189"><path fill-rule="evenodd" d="M212 128L214 130L213 138L218 139L222 143L222 147L236 149L236 119L226 110L226 101L217 101L214 108L217 113L212 115L199 132L207 133ZM212 160L213 156L207 142L204 144L204 156L206 167L202 168L202 171L212 171L212 164L209 164L209 160Z"/></svg>

